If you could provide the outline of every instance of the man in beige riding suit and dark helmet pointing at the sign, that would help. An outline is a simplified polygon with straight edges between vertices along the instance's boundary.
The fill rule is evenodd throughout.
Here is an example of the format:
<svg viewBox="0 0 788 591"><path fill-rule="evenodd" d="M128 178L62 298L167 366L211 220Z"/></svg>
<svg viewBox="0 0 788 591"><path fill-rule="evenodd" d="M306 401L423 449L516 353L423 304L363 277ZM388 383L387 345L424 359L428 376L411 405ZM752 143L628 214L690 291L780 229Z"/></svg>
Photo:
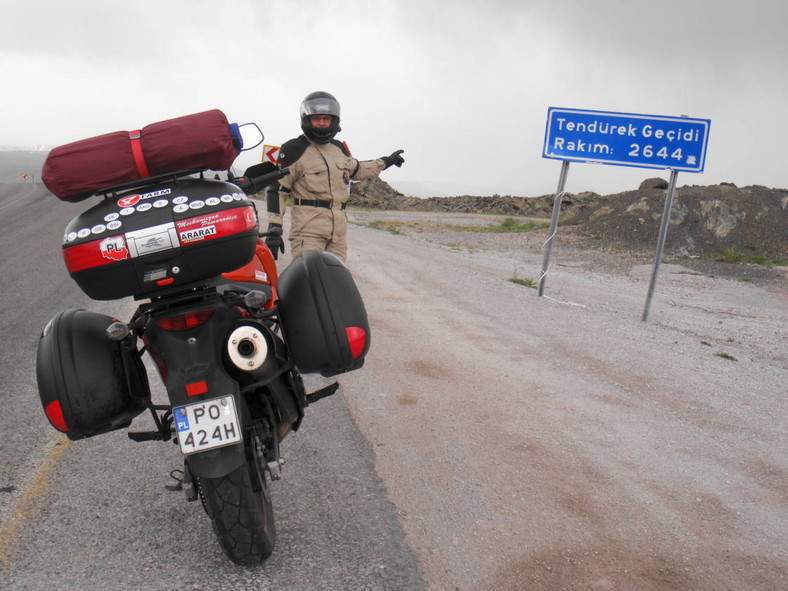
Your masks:
<svg viewBox="0 0 788 591"><path fill-rule="evenodd" d="M404 150L375 160L359 161L334 139L340 131L339 103L327 92L313 92L301 103L304 134L285 142L277 164L290 174L268 187L266 246L274 258L285 251L282 218L285 199L292 198L290 248L293 260L308 250L325 250L347 258L347 214L350 181L375 178L389 166L402 166Z"/></svg>

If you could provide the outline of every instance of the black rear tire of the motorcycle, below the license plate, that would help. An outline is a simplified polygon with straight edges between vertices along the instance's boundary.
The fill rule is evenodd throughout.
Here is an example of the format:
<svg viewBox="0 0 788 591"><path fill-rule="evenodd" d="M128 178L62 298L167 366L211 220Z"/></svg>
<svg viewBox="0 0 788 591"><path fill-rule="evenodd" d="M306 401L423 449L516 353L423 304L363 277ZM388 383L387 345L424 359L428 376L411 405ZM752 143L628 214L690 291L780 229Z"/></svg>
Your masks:
<svg viewBox="0 0 788 591"><path fill-rule="evenodd" d="M254 480L258 486L254 486ZM274 551L276 528L270 483L244 464L221 478L199 478L200 497L228 558L256 566Z"/></svg>

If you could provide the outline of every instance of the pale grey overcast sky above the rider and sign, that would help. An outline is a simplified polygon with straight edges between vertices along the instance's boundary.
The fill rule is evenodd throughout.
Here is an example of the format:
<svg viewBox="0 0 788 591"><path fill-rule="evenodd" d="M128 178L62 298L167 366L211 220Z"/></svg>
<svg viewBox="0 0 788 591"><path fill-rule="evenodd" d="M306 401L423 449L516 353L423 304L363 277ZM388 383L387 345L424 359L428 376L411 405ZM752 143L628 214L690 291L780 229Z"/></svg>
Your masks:
<svg viewBox="0 0 788 591"><path fill-rule="evenodd" d="M281 144L326 90L356 157L405 150L383 178L410 195L554 192L550 106L711 119L679 186L785 188L786 23L785 0L0 0L0 146L214 108ZM652 176L577 163L566 189Z"/></svg>

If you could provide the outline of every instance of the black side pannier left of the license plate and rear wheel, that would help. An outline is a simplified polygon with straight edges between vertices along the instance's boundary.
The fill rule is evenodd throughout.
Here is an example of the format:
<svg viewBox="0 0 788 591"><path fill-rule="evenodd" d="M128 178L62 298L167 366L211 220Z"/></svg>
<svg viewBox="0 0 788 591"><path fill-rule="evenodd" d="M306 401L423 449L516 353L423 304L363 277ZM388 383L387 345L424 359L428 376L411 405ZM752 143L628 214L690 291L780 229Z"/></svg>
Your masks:
<svg viewBox="0 0 788 591"><path fill-rule="evenodd" d="M36 377L44 413L77 440L128 427L146 408L150 389L136 345L108 337L110 316L68 309L38 342Z"/></svg>

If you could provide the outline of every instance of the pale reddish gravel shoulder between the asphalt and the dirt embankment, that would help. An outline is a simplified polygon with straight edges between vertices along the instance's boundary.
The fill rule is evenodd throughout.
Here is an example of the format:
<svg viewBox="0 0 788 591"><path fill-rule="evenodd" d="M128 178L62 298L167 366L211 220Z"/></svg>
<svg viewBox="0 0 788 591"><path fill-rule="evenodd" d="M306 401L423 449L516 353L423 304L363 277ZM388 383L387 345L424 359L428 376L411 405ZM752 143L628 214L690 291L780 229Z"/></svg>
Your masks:
<svg viewBox="0 0 788 591"><path fill-rule="evenodd" d="M653 254L561 228L540 298L509 279L538 279L544 230L349 217L373 347L345 398L430 589L785 585L780 270L668 260L642 322Z"/></svg>

